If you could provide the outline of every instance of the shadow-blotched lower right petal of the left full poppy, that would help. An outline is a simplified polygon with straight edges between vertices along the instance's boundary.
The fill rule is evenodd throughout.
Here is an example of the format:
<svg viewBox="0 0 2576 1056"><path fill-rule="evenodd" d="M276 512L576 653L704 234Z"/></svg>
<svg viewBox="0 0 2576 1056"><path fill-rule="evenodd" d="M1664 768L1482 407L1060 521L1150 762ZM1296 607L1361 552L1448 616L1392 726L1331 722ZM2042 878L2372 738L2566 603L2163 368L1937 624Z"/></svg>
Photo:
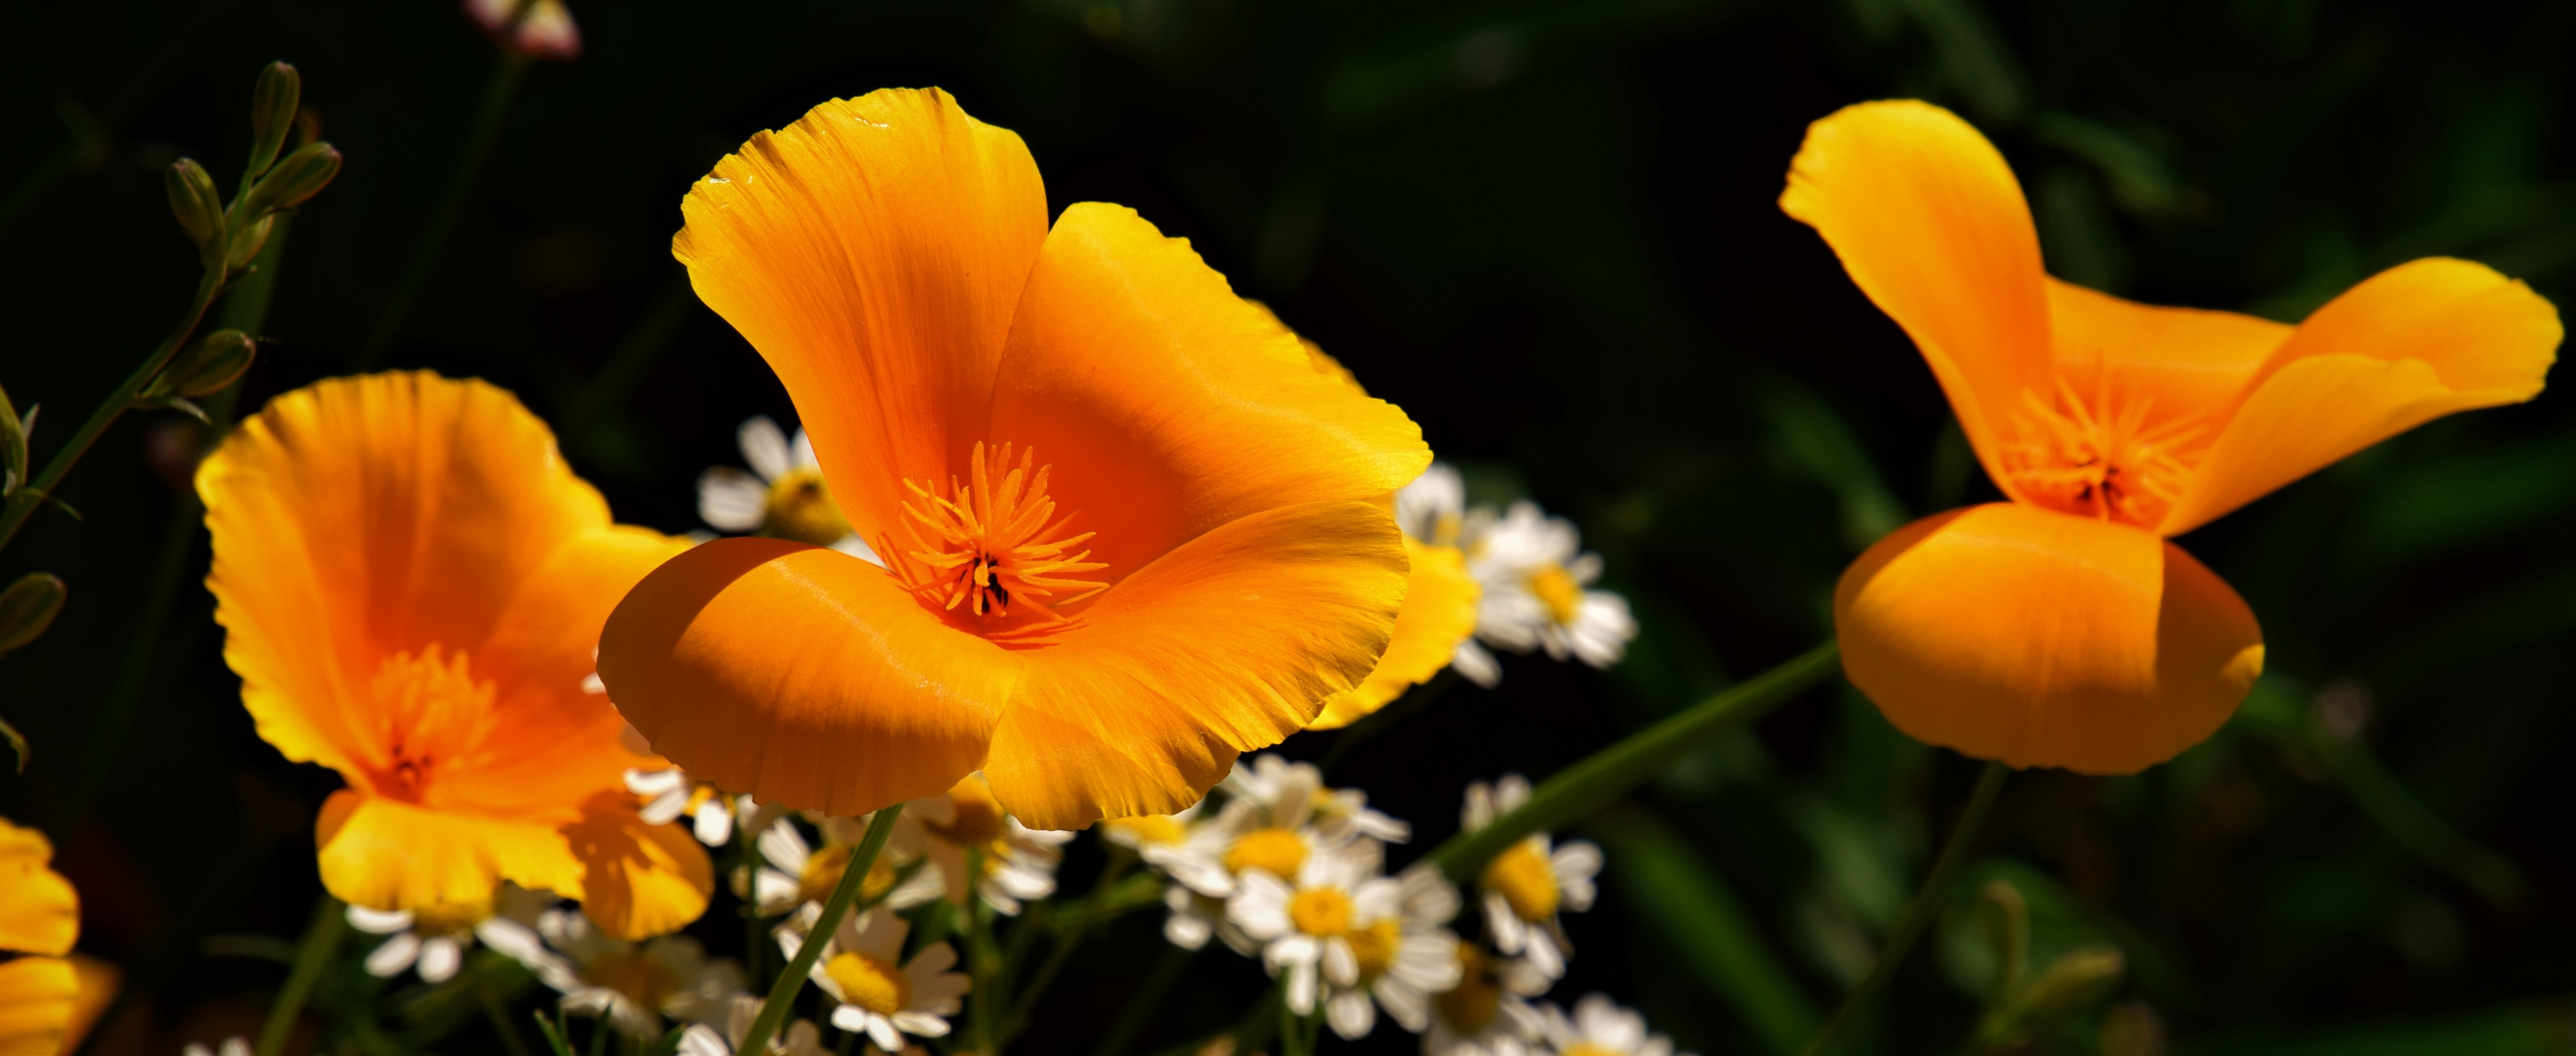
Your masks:
<svg viewBox="0 0 2576 1056"><path fill-rule="evenodd" d="M634 796L598 793L564 840L582 863L582 917L621 940L688 927L716 889L706 847L677 824L647 824Z"/></svg>

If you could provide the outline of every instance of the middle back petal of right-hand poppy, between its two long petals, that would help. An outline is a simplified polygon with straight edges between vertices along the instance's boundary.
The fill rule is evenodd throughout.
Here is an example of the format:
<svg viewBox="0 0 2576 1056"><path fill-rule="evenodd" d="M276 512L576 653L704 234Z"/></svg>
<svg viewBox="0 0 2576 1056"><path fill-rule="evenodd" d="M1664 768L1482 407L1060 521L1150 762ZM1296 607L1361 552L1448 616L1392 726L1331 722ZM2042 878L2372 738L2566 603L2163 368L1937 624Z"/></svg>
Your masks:
<svg viewBox="0 0 2576 1056"><path fill-rule="evenodd" d="M2146 399L2156 420L2223 415L2290 325L2239 312L2169 309L2048 281L2058 373L2089 394L2107 371L2120 399ZM2202 435L2210 440L2215 425Z"/></svg>

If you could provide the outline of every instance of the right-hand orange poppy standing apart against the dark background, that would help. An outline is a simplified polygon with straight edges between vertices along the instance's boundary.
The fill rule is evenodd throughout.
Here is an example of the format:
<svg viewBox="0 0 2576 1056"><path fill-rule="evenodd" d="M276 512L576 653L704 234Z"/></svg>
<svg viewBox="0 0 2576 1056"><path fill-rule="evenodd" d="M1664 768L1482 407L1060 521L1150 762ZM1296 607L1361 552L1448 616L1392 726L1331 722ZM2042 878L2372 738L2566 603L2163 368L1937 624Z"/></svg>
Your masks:
<svg viewBox="0 0 2576 1056"><path fill-rule="evenodd" d="M2040 270L2004 157L1929 103L1816 121L1780 209L1816 227L1950 397L2009 502L1870 546L1834 590L1852 685L1906 734L2009 765L2136 773L2215 731L2262 631L2166 538L2427 420L2532 399L2558 312L2414 260L2298 327Z"/></svg>

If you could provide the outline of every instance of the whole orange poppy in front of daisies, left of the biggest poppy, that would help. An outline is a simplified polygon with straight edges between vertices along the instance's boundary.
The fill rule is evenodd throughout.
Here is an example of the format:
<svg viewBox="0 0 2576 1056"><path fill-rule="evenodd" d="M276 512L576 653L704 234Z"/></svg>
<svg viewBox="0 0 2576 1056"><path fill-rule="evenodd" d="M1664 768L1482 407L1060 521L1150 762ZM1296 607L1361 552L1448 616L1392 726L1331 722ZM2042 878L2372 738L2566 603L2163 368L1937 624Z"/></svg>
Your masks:
<svg viewBox="0 0 2576 1056"><path fill-rule="evenodd" d="M608 608L688 541L608 520L515 397L435 373L332 379L242 422L196 474L214 618L260 737L340 770L322 886L479 917L502 881L641 938L706 909L706 850L623 788L585 693Z"/></svg>

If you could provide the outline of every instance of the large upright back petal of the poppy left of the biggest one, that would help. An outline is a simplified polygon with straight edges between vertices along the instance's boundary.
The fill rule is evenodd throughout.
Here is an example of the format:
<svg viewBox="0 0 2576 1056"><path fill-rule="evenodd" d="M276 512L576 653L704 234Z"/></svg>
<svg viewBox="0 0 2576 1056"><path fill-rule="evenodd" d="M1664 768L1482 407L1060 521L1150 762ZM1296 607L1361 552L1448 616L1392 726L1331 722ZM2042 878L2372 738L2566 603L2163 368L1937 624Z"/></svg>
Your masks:
<svg viewBox="0 0 2576 1056"><path fill-rule="evenodd" d="M268 402L206 456L196 492L242 703L289 760L340 773L384 762L350 703L384 654L489 639L562 541L608 525L518 397L425 371Z"/></svg>

